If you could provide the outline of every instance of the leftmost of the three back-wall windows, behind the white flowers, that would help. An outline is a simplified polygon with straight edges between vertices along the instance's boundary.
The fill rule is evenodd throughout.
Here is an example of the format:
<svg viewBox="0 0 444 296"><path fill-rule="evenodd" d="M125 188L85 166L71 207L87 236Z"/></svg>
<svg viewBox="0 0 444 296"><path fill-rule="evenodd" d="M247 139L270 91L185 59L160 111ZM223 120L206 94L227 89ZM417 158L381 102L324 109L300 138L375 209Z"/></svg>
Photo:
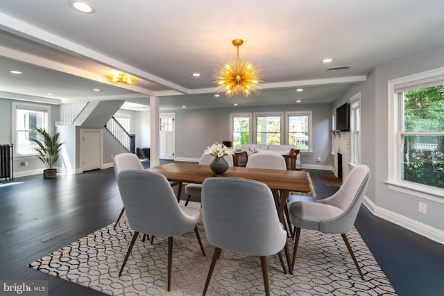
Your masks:
<svg viewBox="0 0 444 296"><path fill-rule="evenodd" d="M251 113L230 114L230 134L232 148L241 148L242 144L251 143Z"/></svg>

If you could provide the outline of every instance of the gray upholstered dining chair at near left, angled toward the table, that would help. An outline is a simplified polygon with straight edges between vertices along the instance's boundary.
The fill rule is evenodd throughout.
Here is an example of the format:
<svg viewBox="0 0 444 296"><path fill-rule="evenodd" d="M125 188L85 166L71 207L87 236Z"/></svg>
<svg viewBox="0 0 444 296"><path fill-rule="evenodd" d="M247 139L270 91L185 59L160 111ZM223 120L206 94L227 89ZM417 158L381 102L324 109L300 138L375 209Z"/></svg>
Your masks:
<svg viewBox="0 0 444 296"><path fill-rule="evenodd" d="M205 256L197 228L200 211L180 206L173 189L164 175L149 171L121 171L119 191L126 209L126 216L133 240L128 247L121 266L119 277L125 268L139 233L168 237L168 290L171 290L171 261L173 256L173 236L186 234L194 229L200 250Z"/></svg>

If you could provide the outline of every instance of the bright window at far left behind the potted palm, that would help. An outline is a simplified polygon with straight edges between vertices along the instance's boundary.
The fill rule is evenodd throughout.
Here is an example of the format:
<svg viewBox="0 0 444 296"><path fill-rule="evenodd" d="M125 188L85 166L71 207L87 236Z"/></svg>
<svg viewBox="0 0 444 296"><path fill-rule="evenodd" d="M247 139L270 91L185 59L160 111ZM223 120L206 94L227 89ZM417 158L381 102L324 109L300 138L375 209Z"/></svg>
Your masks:
<svg viewBox="0 0 444 296"><path fill-rule="evenodd" d="M35 154L35 128L48 130L50 107L26 103L12 103L12 142L15 143L16 155Z"/></svg>

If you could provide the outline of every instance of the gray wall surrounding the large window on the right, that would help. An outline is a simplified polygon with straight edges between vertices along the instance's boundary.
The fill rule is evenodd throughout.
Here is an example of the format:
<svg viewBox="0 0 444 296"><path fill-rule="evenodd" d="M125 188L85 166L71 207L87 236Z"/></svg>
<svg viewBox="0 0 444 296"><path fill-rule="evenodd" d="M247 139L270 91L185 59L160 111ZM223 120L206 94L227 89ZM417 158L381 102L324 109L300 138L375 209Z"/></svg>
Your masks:
<svg viewBox="0 0 444 296"><path fill-rule="evenodd" d="M361 163L370 166L371 180L366 196L375 204L376 214L407 228L434 227L444 231L444 198L430 200L388 189L388 80L444 67L444 46L377 67L366 82L350 89L340 105L361 92ZM418 203L427 204L427 214L419 213ZM387 212L388 211L388 212ZM398 216L401 215L401 216ZM412 220L409 220L412 219ZM421 224L423 223L423 225ZM436 234L438 236L438 234Z"/></svg>

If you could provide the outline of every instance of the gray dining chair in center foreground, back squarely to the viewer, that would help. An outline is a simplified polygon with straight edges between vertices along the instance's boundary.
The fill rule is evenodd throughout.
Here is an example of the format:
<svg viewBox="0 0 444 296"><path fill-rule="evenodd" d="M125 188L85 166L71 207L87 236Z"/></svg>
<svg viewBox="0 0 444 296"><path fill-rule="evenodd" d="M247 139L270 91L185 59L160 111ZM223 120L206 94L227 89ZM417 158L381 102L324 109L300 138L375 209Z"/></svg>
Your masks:
<svg viewBox="0 0 444 296"><path fill-rule="evenodd" d="M214 245L203 295L207 293L221 250L260 256L264 288L269 295L266 256L278 254L287 273L281 250L284 247L288 250L287 232L279 222L271 189L253 180L207 178L202 186L202 216L208 242Z"/></svg>

